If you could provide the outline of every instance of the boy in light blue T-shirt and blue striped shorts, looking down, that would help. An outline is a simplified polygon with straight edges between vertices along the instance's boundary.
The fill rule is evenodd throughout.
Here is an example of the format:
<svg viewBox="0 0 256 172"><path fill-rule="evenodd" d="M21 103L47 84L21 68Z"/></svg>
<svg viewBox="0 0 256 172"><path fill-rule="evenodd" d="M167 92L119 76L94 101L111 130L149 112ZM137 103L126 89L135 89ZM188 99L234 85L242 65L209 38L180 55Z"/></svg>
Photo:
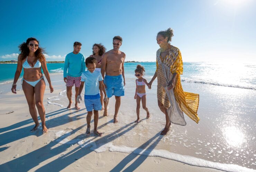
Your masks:
<svg viewBox="0 0 256 172"><path fill-rule="evenodd" d="M90 127L91 127L91 117L92 111L94 114L94 134L98 136L102 136L102 133L97 130L98 120L99 120L99 110L101 110L101 101L100 101L100 89L103 91L105 97L104 101L108 101L107 94L103 85L103 78L101 76L100 71L95 71L97 60L94 57L87 57L85 60L85 64L87 67L87 71L82 73L81 78L81 86L79 88L79 93L77 96L77 102L80 103L82 100L81 93L84 88L84 104L87 110L86 122L87 129L86 134L90 135Z"/></svg>

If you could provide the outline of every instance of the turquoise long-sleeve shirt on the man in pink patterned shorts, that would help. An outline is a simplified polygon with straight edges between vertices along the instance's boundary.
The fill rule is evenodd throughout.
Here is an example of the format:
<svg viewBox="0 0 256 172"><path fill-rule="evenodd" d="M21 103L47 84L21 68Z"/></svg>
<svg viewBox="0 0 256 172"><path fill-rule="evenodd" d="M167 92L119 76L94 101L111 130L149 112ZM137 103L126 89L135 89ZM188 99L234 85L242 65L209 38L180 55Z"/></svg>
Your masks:
<svg viewBox="0 0 256 172"><path fill-rule="evenodd" d="M65 57L65 64L63 70L64 78L68 76L80 77L85 71L85 58L81 53L69 53Z"/></svg>

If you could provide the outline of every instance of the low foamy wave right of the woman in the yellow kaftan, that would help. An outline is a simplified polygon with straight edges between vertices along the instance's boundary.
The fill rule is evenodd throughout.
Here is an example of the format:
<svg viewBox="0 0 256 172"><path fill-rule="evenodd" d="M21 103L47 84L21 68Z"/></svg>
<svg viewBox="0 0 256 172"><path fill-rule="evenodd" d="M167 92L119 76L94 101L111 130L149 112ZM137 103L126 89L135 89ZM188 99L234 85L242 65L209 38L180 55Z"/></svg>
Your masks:
<svg viewBox="0 0 256 172"><path fill-rule="evenodd" d="M235 85L235 84L220 84L220 83L214 83L214 82L207 82L207 81L203 81L203 80L181 79L181 81L186 82L186 83L209 84L209 85L217 85L217 86L223 86L223 87L234 87L234 88L256 90L256 87L241 86L241 85Z"/></svg>

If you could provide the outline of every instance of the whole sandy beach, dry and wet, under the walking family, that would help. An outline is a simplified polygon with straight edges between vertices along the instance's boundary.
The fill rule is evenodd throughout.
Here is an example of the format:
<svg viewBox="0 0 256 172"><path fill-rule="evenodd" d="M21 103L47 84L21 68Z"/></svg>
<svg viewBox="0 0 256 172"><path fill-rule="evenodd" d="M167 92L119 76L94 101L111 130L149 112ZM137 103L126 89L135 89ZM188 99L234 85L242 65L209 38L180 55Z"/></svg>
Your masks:
<svg viewBox="0 0 256 172"><path fill-rule="evenodd" d="M103 136L97 137L93 120L91 136L85 135L83 101L80 110L74 104L65 108L62 74L51 74L51 79L54 92L47 84L44 97L45 134L42 129L30 132L34 122L23 91L15 95L8 90L11 83L0 85L0 171L256 171L256 90L182 83L185 91L200 94L200 121L184 114L186 126L172 124L160 136L165 118L157 106L156 81L147 89L150 118L141 107L142 120L136 124L135 82L127 79L119 122L113 124L111 98L109 116L99 112Z"/></svg>

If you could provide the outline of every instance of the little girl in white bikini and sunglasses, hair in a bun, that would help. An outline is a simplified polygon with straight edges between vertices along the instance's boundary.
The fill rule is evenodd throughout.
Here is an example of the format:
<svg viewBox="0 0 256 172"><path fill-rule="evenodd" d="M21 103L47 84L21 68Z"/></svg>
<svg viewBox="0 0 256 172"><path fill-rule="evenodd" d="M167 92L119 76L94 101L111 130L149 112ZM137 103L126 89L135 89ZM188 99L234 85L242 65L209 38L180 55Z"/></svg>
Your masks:
<svg viewBox="0 0 256 172"><path fill-rule="evenodd" d="M135 91L135 96L134 99L136 99L137 102L137 120L135 121L136 123L139 123L139 109L140 109L140 100L142 102L142 107L143 109L146 110L147 112L147 119L149 118L149 111L148 108L146 107L146 89L145 85L148 86L147 80L143 78L145 69L141 65L137 65L137 68L135 69L135 76L138 78L136 79L136 91Z"/></svg>

